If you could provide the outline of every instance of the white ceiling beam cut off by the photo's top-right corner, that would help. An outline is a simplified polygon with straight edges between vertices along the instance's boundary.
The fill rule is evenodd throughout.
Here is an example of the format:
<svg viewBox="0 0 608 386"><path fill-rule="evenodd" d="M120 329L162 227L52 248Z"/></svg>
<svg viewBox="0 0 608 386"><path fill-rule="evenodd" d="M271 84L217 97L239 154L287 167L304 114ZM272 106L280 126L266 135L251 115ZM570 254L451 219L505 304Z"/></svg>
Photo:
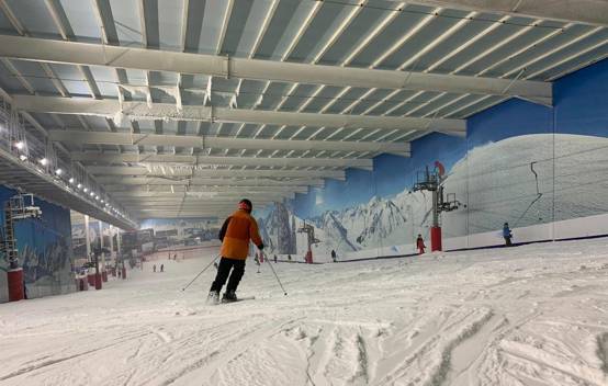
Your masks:
<svg viewBox="0 0 608 386"><path fill-rule="evenodd" d="M408 2L464 11L608 26L608 1L605 0L413 0Z"/></svg>

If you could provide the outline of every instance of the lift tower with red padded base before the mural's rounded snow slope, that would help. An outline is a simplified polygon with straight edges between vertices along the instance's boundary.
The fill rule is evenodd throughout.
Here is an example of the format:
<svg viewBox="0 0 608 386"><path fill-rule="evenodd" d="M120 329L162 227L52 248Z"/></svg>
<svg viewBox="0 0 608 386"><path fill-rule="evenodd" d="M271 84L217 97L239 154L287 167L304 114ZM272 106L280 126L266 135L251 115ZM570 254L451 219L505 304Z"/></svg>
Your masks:
<svg viewBox="0 0 608 386"><path fill-rule="evenodd" d="M424 172L418 172L413 191L429 191L432 194L432 226L430 228L430 250L440 251L441 225L439 224L441 212L451 212L460 207L461 203L455 198L455 193L443 193L444 168L441 162L435 162L435 169L429 171L428 166Z"/></svg>

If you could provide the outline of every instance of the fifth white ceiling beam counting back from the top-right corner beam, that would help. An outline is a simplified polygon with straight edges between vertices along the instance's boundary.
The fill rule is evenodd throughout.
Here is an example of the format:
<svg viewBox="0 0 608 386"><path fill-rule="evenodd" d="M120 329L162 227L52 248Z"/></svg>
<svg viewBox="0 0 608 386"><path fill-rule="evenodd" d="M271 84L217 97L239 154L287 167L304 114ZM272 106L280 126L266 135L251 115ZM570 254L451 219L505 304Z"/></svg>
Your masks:
<svg viewBox="0 0 608 386"><path fill-rule="evenodd" d="M108 163L190 163L196 166L240 166L240 167L286 167L286 168L358 168L372 170L373 160L367 158L263 158L263 157L211 157L167 154L116 154L97 151L74 151L74 161Z"/></svg>

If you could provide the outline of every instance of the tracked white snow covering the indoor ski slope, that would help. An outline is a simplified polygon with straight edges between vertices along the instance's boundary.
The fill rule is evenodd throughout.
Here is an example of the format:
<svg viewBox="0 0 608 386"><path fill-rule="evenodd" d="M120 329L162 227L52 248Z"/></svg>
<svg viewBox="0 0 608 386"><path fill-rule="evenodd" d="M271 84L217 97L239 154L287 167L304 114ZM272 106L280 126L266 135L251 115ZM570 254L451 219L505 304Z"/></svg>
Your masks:
<svg viewBox="0 0 608 386"><path fill-rule="evenodd" d="M608 239L306 265L212 257L0 305L1 385L608 385Z"/></svg>

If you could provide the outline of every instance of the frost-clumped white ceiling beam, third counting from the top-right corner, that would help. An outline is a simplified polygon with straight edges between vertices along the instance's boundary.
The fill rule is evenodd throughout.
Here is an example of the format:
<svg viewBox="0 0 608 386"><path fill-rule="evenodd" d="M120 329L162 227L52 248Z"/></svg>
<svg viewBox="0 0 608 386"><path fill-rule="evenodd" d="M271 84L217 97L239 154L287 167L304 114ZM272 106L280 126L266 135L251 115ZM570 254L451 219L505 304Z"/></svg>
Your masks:
<svg viewBox="0 0 608 386"><path fill-rule="evenodd" d="M510 81L509 81L510 82ZM225 109L184 105L178 110L169 103L123 102L89 98L60 98L13 95L14 107L33 113L57 113L102 116L119 115L131 120L172 120L204 122L240 122L250 124L305 125L344 127L350 129L382 128L401 130L431 130L452 135L466 132L463 120L434 120L402 116L341 115L316 113L290 113L278 111Z"/></svg>

